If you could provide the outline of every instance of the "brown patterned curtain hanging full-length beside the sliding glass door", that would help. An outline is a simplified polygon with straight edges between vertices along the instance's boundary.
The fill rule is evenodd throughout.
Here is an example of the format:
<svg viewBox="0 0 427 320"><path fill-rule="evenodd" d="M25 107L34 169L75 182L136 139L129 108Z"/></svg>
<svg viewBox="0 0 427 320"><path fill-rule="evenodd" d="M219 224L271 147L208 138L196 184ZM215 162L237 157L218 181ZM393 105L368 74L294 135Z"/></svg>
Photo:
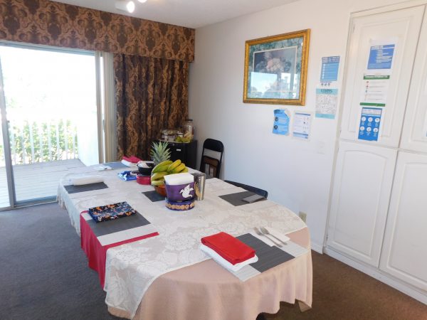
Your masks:
<svg viewBox="0 0 427 320"><path fill-rule="evenodd" d="M114 55L117 104L117 159L149 159L162 129L180 127L188 115L189 63Z"/></svg>

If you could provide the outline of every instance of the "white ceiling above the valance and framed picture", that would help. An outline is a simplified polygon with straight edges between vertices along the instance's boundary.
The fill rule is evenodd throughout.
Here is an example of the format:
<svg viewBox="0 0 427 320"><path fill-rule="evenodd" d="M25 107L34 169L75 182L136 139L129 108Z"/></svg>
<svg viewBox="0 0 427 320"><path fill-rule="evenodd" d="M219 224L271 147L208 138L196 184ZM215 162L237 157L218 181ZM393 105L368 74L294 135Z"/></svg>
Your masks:
<svg viewBox="0 0 427 320"><path fill-rule="evenodd" d="M115 9L115 0L55 0L64 4L85 6L90 9L125 14L176 26L200 28L226 21L236 16L270 9L297 0L147 0L135 1L135 11L129 14Z"/></svg>

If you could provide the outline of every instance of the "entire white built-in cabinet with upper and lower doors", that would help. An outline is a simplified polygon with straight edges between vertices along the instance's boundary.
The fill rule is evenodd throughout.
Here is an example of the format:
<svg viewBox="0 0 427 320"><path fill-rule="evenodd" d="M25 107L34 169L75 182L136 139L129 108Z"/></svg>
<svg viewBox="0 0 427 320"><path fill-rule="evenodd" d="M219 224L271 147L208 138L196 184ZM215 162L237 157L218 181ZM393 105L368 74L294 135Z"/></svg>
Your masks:
<svg viewBox="0 0 427 320"><path fill-rule="evenodd" d="M352 19L327 247L427 291L425 6ZM424 18L423 18L424 17ZM378 139L359 139L371 50L393 43ZM380 91L381 91L380 90ZM385 92L385 94L384 94Z"/></svg>

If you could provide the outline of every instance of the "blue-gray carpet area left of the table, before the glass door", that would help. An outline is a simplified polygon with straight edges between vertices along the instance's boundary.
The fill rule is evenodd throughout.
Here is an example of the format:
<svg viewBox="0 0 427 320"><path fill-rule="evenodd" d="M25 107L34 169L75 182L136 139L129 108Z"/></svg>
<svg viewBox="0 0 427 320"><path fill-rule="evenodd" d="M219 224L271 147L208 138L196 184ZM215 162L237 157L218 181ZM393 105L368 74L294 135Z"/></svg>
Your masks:
<svg viewBox="0 0 427 320"><path fill-rule="evenodd" d="M119 319L57 203L0 212L0 319Z"/></svg>

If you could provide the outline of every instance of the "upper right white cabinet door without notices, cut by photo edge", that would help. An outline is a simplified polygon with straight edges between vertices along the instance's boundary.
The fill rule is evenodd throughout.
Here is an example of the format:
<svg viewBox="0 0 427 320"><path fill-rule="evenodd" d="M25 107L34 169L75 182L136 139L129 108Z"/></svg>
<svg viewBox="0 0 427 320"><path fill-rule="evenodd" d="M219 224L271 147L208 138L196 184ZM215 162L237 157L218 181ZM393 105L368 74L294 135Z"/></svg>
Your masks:
<svg viewBox="0 0 427 320"><path fill-rule="evenodd" d="M401 149L427 152L427 16L413 65Z"/></svg>

